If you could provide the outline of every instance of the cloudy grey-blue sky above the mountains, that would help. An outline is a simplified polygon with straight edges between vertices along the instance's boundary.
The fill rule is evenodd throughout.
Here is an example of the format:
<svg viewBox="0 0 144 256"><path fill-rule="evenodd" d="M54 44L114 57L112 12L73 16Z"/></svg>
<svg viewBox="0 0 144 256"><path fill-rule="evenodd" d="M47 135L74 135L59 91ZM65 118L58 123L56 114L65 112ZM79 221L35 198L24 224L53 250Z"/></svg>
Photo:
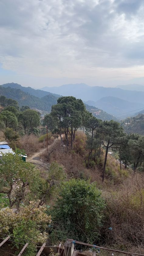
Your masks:
<svg viewBox="0 0 144 256"><path fill-rule="evenodd" d="M144 84L143 0L0 0L0 84Z"/></svg>

